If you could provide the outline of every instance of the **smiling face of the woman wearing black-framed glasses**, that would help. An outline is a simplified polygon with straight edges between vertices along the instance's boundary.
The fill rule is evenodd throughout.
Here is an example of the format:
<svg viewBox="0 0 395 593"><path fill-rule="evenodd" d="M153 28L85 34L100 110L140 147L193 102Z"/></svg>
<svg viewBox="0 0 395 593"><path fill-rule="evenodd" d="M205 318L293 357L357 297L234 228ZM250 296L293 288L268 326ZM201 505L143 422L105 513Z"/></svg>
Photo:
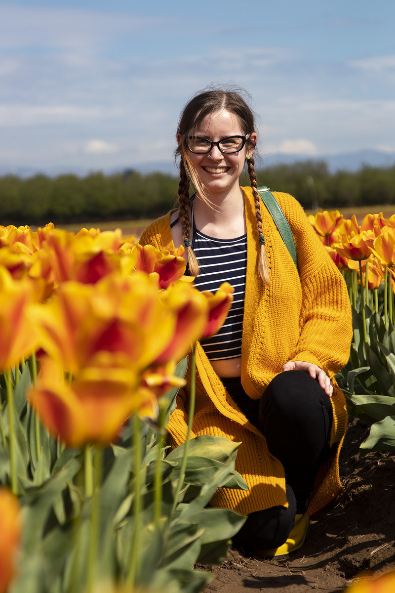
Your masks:
<svg viewBox="0 0 395 593"><path fill-rule="evenodd" d="M193 135L217 142L229 136L245 136L245 133L234 113L221 110L205 117L194 130ZM178 144L181 141L181 135L177 135ZM239 177L243 171L246 155L253 153L253 148L247 149L247 144L251 146L251 143L255 144L255 142L256 133L254 132L242 150L233 154L224 154L218 146L213 146L211 151L205 154L188 151L190 164L207 195L229 192L233 187L239 186Z"/></svg>

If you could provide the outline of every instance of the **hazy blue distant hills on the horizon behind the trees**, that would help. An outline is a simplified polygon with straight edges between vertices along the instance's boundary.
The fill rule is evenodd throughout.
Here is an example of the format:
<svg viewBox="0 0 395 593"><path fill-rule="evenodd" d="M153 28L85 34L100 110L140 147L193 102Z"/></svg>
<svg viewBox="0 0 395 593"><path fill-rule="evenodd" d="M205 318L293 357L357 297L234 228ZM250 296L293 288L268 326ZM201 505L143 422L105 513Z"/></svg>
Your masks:
<svg viewBox="0 0 395 593"><path fill-rule="evenodd" d="M395 152L388 153L384 151L378 151L373 149L366 149L354 152L339 152L338 154L331 155L319 155L316 157L309 157L307 155L300 154L268 154L262 158L262 165L257 163L259 168L273 167L278 164L292 164L300 161L326 161L327 167L330 173L335 173L339 170L345 171L358 171L363 165L370 165L371 167L391 167L395 165ZM146 174L152 173L153 171L159 171L160 173L178 175L176 165L174 161L155 161L155 162L142 162L137 164L126 164L124 167L107 168L88 168L88 167L14 167L10 170L9 167L2 166L0 164L0 176L12 173L19 177L27 178L32 177L38 173L43 173L49 177L57 177L59 175L73 173L79 177L85 177L92 171L101 170L105 175L111 175L119 173L127 169L134 169L139 173Z"/></svg>

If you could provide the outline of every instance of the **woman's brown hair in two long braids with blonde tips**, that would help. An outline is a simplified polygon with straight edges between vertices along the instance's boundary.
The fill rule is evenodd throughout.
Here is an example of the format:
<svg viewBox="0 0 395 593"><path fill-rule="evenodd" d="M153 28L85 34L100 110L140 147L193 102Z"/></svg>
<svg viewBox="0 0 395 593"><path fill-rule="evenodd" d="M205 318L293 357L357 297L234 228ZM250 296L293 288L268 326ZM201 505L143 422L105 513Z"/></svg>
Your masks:
<svg viewBox="0 0 395 593"><path fill-rule="evenodd" d="M245 94L245 93L243 93ZM195 129L205 117L217 111L226 110L235 114L240 122L243 133L252 134L255 132L254 116L240 91L208 90L197 93L185 105L179 118L177 134L181 135L181 143L176 148L175 155L180 157L179 162L179 220L182 226L182 238L188 250L188 262L192 275L197 276L199 265L191 247L191 200L189 195L190 185L195 187L197 192L205 199L204 187L201 186L193 167L188 158L188 135ZM247 141L247 149L255 148L255 144ZM252 157L248 159L248 175L255 199L256 226L258 229L258 240L261 245L260 257L258 259L258 273L264 283L270 286L269 266L266 257L265 240L262 232L261 199L256 189L256 174L254 169L255 161Z"/></svg>

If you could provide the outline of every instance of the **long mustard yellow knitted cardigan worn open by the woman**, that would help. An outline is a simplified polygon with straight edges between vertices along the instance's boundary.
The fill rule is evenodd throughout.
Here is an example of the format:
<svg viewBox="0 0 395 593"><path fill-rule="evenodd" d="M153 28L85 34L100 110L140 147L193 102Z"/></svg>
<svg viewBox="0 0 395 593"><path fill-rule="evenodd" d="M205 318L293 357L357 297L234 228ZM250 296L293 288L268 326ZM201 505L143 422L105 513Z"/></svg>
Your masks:
<svg viewBox="0 0 395 593"><path fill-rule="evenodd" d="M255 203L250 187L242 187L247 226L247 272L242 339L242 385L252 399L259 399L266 385L287 361L312 362L334 375L348 361L352 336L351 306L341 273L311 228L300 204L285 193L274 193L290 223L299 272L275 224L262 204L262 228L271 286L264 286L257 273L259 238ZM171 211L174 212L174 211ZM170 215L153 222L140 244L161 251L174 249ZM211 505L246 515L271 506L288 506L284 470L267 448L266 439L239 410L214 372L200 344L196 348L196 407L192 438L223 436L241 442L236 470L249 491L220 488ZM179 391L177 407L166 427L173 446L185 442L188 421L188 387ZM345 398L334 381L332 455L323 466L310 498L309 513L319 511L341 491L339 450L346 431Z"/></svg>

